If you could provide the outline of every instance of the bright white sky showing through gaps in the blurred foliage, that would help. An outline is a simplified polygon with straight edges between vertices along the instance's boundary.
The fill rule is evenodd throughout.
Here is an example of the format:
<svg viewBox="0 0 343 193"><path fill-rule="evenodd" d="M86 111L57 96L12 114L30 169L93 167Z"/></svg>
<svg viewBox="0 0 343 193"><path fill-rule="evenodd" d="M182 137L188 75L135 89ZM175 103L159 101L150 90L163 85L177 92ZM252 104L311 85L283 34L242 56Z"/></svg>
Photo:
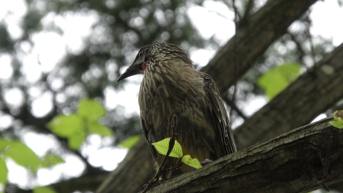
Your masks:
<svg viewBox="0 0 343 193"><path fill-rule="evenodd" d="M343 9L338 6L337 1L318 1L311 7L311 10L310 16L313 21L310 28L311 34L332 39L335 46L341 44L343 42L343 23L341 20L343 18ZM0 22L4 22L8 26L12 38L21 37L23 32L20 29L20 22L26 11L24 0L0 0ZM224 44L234 34L235 29L232 22L234 14L219 1L206 0L204 7L193 5L187 13L200 34L206 39L214 36ZM39 80L43 72L53 70L67 51L80 52L84 47L84 38L90 35L91 26L97 21L98 18L95 12L88 15L72 14L71 12L66 12L63 15L49 13L42 21L46 29L32 35L34 45L31 46L27 42L20 45L22 51L19 53L19 59L23 63L22 72L25 73L27 81L33 84ZM61 36L55 32L49 32L48 26L51 22L65 29L65 33ZM192 51L190 57L195 63L204 66L214 53L215 50L200 49ZM0 54L0 79L8 79L12 76L12 59L9 54ZM40 64L38 64L38 61ZM125 71L124 68L121 70ZM141 76L130 77L125 88L120 91L110 87L107 88L105 90L106 108L114 109L117 105L122 105L125 107L126 116L138 114L138 103L132 103L132 101L138 99L141 79ZM18 105L18 101L23 101L23 93L18 88L7 89L5 93L5 99L11 104L13 103L12 105ZM52 94L43 92L40 88L33 88L30 95L34 99L32 113L37 117L44 117L52 108ZM253 99L244 107L244 111L246 113L255 112L266 102L265 98ZM319 120L324 116L321 115L317 119ZM9 116L0 115L0 127L7 127L12 121ZM26 133L24 135L25 143L39 156L43 156L49 149L53 149L57 143L55 140L54 137L39 134ZM113 170L126 155L126 149L102 148L104 141L98 136L89 136L87 140L92 145L82 147L81 152L83 155L89 156L88 160L94 166L103 166L106 170ZM105 143L110 143L110 141L111 139L105 139ZM42 147L42 144L44 144L44 147ZM40 169L37 173L38 181L34 183L36 185L46 185L56 182L62 176L80 175L80 172L84 169L81 160L72 155L66 155L64 159L67 163L51 169ZM9 181L22 187L27 186L27 176L29 175L27 171L11 160L8 160L7 164L9 167Z"/></svg>

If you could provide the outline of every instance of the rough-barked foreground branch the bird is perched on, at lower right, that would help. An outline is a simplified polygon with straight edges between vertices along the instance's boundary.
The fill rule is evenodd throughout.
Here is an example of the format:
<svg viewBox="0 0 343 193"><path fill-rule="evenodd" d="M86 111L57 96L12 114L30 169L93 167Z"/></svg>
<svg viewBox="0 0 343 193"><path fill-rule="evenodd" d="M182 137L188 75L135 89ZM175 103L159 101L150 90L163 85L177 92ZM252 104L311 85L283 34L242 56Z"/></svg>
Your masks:
<svg viewBox="0 0 343 193"><path fill-rule="evenodd" d="M332 116L171 178L151 192L310 192L343 181Z"/></svg>

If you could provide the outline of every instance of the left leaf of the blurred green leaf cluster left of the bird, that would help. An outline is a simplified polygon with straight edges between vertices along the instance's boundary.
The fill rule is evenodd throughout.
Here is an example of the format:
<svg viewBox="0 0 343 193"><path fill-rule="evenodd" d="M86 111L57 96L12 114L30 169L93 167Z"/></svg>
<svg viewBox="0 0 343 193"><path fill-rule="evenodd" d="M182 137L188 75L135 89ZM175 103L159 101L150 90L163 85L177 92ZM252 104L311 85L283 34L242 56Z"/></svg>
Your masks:
<svg viewBox="0 0 343 193"><path fill-rule="evenodd" d="M76 114L57 115L52 118L47 127L60 137L69 137L84 129L84 121Z"/></svg>

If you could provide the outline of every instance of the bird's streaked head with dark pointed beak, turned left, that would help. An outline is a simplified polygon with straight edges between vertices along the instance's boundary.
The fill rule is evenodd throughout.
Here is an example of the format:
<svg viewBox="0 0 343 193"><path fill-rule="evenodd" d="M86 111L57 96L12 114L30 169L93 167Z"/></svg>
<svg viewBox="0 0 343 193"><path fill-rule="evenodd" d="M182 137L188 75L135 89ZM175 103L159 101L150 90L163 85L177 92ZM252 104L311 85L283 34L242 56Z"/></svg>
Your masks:
<svg viewBox="0 0 343 193"><path fill-rule="evenodd" d="M193 67L192 60L180 46L170 43L149 44L138 51L133 63L120 75L117 82L133 75L144 74L145 69L152 63L164 60L180 60Z"/></svg>

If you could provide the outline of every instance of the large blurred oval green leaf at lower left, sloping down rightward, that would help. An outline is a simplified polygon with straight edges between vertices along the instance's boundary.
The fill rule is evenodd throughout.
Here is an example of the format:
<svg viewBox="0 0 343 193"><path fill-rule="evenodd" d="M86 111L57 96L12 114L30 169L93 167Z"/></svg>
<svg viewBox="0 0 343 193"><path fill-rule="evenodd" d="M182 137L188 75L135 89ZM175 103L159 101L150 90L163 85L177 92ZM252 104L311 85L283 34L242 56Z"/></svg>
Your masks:
<svg viewBox="0 0 343 193"><path fill-rule="evenodd" d="M40 159L35 152L20 141L11 141L4 155L32 172L36 172L40 165Z"/></svg>

